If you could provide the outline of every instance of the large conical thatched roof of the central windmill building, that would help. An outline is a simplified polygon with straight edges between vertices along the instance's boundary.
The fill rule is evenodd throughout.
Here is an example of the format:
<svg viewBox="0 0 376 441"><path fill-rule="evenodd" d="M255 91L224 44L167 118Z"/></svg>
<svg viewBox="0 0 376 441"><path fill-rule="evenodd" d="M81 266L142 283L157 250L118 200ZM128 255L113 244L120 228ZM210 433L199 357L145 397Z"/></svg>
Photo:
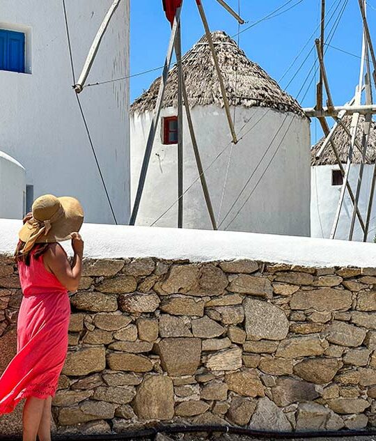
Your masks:
<svg viewBox="0 0 376 441"><path fill-rule="evenodd" d="M250 61L226 33L213 32L212 38L231 106L269 107L304 116L299 103L282 91L265 70ZM182 65L189 105L224 107L217 72L205 36L182 57ZM159 77L148 91L134 101L132 113L154 109L160 81ZM169 73L163 107L178 107L178 72L175 67Z"/></svg>

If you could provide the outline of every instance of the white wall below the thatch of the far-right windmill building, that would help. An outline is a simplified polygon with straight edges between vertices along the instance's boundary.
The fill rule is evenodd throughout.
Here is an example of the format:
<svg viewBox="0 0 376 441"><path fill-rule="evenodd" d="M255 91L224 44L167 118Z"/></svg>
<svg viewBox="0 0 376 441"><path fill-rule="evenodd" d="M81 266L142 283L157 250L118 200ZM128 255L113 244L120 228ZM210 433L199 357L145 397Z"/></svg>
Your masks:
<svg viewBox="0 0 376 441"><path fill-rule="evenodd" d="M349 182L355 194L359 176L360 164L353 164L350 167ZM314 238L329 238L333 226L334 217L340 197L340 185L331 185L331 171L337 170L335 165L322 165L312 167L311 183L311 235ZM359 210L366 222L370 185L373 176L373 165L365 165L361 193L359 196ZM352 201L348 192L345 193L343 208L340 213L336 239L347 240L349 237L350 224L352 219ZM376 197L373 201L373 210L370 217L370 233L368 241L372 242L376 233ZM355 221L354 240L363 240L363 232L358 218Z"/></svg>

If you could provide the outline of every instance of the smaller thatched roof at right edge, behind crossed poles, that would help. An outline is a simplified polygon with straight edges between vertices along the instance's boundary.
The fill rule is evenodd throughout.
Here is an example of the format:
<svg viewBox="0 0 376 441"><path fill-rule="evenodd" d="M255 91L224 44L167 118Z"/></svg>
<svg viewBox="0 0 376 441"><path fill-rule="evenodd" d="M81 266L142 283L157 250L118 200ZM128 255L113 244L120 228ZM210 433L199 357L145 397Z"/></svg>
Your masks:
<svg viewBox="0 0 376 441"><path fill-rule="evenodd" d="M343 118L344 125L350 130L352 116L345 116ZM363 115L359 116L359 125L357 130L357 140L359 145L361 145L361 138L363 134L363 125L365 122L365 118ZM311 150L311 164L312 165L334 165L337 164L336 156L333 153L333 149L331 148L330 143L324 149L318 160L316 159L316 152L318 152L324 142L324 137L318 141L312 150ZM350 138L348 137L345 129L343 127L338 127L333 137L334 145L338 150L338 154L340 156L340 161L345 163L347 162L347 155L350 146ZM368 137L368 146L367 146L367 157L370 162L376 162L376 122L371 122L370 135ZM358 148L354 147L354 153L352 156L353 164L361 163L361 153Z"/></svg>

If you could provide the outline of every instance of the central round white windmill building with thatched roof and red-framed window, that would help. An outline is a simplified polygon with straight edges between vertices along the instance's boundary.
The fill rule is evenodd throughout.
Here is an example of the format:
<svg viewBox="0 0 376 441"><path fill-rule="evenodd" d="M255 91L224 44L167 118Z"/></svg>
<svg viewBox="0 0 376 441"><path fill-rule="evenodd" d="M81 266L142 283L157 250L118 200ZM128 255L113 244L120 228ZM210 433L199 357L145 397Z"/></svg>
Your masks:
<svg viewBox="0 0 376 441"><path fill-rule="evenodd" d="M203 168L210 167L205 177L219 229L308 236L311 194L308 118L298 103L260 66L247 59L226 33L214 32L212 37L231 114L235 116L240 139L236 146L230 143L218 77L205 37L185 54L182 64ZM132 199L159 82L160 79L155 80L131 107ZM139 225L154 224L178 199L177 82L173 68L136 220ZM196 180L184 195L183 226L210 229L186 118L183 126L184 189ZM235 201L240 192L240 198ZM155 225L177 226L177 219L175 203Z"/></svg>

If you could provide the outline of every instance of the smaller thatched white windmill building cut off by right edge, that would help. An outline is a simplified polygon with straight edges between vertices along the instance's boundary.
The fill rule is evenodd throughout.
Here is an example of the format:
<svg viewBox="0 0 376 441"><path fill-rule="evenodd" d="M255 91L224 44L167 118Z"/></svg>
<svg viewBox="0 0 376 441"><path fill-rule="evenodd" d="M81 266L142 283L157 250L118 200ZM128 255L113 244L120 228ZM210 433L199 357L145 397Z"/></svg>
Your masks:
<svg viewBox="0 0 376 441"><path fill-rule="evenodd" d="M351 116L343 119L345 125L350 130ZM361 144L361 133L363 132L364 117L360 116L359 128L357 131L357 139ZM347 152L349 149L349 137L342 127L338 127L334 134L334 144L340 155L340 160L345 164L347 161ZM320 158L316 160L315 155L322 146L323 139L312 150L312 183L311 183L311 235L314 238L329 238L331 229L336 216L338 201L340 199L340 191L343 184L343 177L336 162L331 146L327 146ZM363 221L366 222L368 201L370 199L370 187L373 178L373 169L376 160L376 123L371 125L370 136L368 138L367 157L370 163L364 164L363 179L359 194L359 211ZM350 166L349 183L352 191L356 194L357 181L361 167L361 153L356 148L352 157ZM350 225L352 220L353 204L349 193L346 190L343 200L343 207L340 211L340 218L335 238L348 240L350 233ZM370 226L368 241L372 242L376 233L376 198L373 199L373 210L370 216ZM363 231L359 224L358 218L355 220L353 240L363 240Z"/></svg>

